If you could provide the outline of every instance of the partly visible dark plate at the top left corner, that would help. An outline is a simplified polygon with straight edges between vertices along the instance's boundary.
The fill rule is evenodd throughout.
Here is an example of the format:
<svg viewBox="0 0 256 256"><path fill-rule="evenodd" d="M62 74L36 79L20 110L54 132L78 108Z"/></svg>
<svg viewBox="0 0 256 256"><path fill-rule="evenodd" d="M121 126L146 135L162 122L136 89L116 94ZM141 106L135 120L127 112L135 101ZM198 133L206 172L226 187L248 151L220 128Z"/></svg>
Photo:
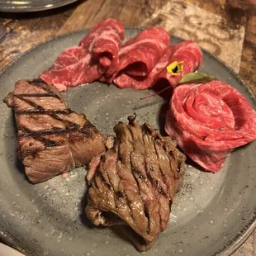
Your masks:
<svg viewBox="0 0 256 256"><path fill-rule="evenodd" d="M0 0L0 12L36 12L62 7L78 0L29 0L3 1Z"/></svg>

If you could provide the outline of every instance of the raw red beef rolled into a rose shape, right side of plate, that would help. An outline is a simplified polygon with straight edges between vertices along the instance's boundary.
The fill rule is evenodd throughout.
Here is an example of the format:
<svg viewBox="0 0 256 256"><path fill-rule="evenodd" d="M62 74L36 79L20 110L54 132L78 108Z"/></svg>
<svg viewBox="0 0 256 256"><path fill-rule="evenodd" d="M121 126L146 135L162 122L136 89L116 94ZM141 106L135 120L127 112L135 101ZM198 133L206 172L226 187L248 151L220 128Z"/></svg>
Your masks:
<svg viewBox="0 0 256 256"><path fill-rule="evenodd" d="M217 172L233 149L256 140L256 113L226 83L187 83L173 91L165 130L193 161Z"/></svg>

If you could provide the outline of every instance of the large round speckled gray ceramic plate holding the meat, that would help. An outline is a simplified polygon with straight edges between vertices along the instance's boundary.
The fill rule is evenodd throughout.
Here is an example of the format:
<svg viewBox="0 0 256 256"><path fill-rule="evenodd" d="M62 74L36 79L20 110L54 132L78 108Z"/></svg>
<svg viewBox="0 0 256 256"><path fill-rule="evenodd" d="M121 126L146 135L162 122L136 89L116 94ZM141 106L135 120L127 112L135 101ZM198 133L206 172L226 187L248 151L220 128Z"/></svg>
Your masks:
<svg viewBox="0 0 256 256"><path fill-rule="evenodd" d="M138 31L127 28L126 39ZM60 36L21 55L0 75L2 98L12 91L17 79L36 78L62 50L77 45L85 33ZM173 43L179 41L173 37ZM206 51L201 71L230 83L255 107L255 98L240 78ZM71 88L64 96L69 107L86 113L102 133L109 134L117 121L126 121L126 116L134 112L141 124L146 121L163 128L168 104L161 97L140 101L149 93L95 82ZM85 169L74 169L68 178L60 175L45 183L28 183L16 157L12 110L2 101L0 109L2 238L26 255L140 255L110 229L88 225L83 213ZM146 255L211 256L234 252L255 226L255 148L253 143L235 150L216 174L187 165L183 190L173 204L171 225Z"/></svg>

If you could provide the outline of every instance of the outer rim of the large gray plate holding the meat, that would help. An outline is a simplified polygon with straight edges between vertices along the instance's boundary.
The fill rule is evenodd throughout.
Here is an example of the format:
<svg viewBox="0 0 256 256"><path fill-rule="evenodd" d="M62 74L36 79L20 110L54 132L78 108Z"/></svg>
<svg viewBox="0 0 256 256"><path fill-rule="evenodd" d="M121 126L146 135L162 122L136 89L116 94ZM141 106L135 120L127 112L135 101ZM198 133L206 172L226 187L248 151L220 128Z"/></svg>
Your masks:
<svg viewBox="0 0 256 256"><path fill-rule="evenodd" d="M76 2L78 0L71 0L71 1ZM138 30L138 31L142 31L142 30L145 30L146 27L125 26L125 29L135 29L135 30ZM0 77L4 73L6 73L8 69L12 68L12 65L15 64L18 59L21 59L24 55L30 53L32 50L36 49L37 47L40 47L41 45L45 45L45 44L47 44L49 42L52 42L52 41L55 41L55 40L59 40L62 37L65 37L65 36L69 36L69 35L72 35L72 34L83 33L83 32L88 32L90 30L91 30L91 27L90 28L86 28L86 29L82 29L82 30L69 31L67 33L64 33L64 34L61 34L61 35L58 35L58 36L53 36L52 38L50 38L48 40L42 41L38 45L32 46L30 49L28 49L25 52L21 53L21 55L18 55L15 59L12 59L12 61L9 64L7 64L7 66L5 66L2 70L0 70ZM178 40L184 40L182 37L174 36L174 35L171 35L170 33L168 33L168 34L171 37L176 38ZM215 59L216 61L218 61L223 67L225 67L225 69L228 69L228 71L235 76L235 79L238 80L238 82L242 86L244 86L248 90L248 92L251 94L250 96L252 97L252 101L254 102L254 107L255 107L256 106L256 95L254 95L254 92L252 92L252 90L249 88L247 83L244 82L244 79L239 75L239 73L235 72L235 70L232 69L229 64L226 64L223 60L221 60L218 57L216 57L216 55L211 54L211 52L209 52L208 50L204 49L201 46L200 46L200 48L207 55L209 55L212 59ZM230 240L230 243L225 244L225 246L220 248L220 250L218 252L216 252L215 255L230 256L231 254L234 254L235 251L237 249L239 249L239 247L242 244L244 244L244 242L247 239L249 239L249 236L254 232L254 230L256 230L256 209L254 209L254 215L249 220L249 225L244 226L244 229L239 232L239 234L235 237L235 239ZM16 240L15 237L12 237L12 235L9 234L9 232L7 232L7 234L10 235L10 238L8 238L7 236L3 236L3 235L1 235L2 231L3 231L2 225L0 224L0 238L2 239L2 241L7 243L8 245L11 245L14 249L17 249L17 250L21 251L21 248L19 247L18 244L12 244L12 242L11 242L11 241L15 241Z"/></svg>

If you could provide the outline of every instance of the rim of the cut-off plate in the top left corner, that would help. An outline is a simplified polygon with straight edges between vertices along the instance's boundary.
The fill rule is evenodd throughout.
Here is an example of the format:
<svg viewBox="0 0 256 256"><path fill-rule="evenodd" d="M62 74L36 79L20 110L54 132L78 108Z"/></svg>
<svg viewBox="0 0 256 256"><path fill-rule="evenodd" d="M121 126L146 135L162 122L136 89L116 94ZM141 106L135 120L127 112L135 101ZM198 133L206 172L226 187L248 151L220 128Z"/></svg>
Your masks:
<svg viewBox="0 0 256 256"><path fill-rule="evenodd" d="M24 6L18 6L18 7L0 7L0 12L12 12L12 13L22 13L22 12L40 12L40 11L47 11L51 9L55 9L58 7L64 7L68 4L71 4L73 2L78 2L79 0L66 0L65 3L57 3L55 5L52 5L51 7L45 7L45 5L41 4L38 7L31 7L28 5Z"/></svg>

